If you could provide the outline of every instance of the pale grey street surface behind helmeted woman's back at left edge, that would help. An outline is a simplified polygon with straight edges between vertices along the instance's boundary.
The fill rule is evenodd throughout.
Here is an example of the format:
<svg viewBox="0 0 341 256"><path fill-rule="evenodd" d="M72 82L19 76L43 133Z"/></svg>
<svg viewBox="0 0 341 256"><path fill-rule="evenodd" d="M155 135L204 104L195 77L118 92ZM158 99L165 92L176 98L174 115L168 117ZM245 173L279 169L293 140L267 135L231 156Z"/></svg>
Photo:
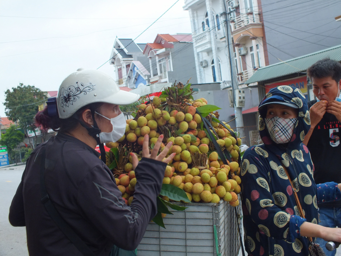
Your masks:
<svg viewBox="0 0 341 256"><path fill-rule="evenodd" d="M12 198L21 181L25 165L0 169L0 255L27 256L25 227L13 227L9 222Z"/></svg>

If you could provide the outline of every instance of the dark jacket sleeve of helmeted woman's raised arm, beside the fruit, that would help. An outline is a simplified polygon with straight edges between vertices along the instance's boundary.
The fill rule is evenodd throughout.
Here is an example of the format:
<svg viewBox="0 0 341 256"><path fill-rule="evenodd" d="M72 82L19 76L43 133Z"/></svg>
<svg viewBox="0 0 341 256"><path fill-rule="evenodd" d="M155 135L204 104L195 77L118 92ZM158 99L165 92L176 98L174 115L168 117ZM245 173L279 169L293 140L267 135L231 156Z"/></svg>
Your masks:
<svg viewBox="0 0 341 256"><path fill-rule="evenodd" d="M136 167L134 200L127 206L104 165L96 166L78 189L78 204L87 218L115 245L133 250L156 215L166 164L142 158Z"/></svg>

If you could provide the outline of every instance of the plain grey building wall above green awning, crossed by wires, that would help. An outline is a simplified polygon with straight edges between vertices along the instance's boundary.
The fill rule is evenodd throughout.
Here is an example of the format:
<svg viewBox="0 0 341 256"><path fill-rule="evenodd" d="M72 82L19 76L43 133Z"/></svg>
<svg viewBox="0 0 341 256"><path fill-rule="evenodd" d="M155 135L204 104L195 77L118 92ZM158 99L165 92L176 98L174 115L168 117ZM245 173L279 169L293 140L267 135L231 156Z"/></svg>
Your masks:
<svg viewBox="0 0 341 256"><path fill-rule="evenodd" d="M340 23L334 19L340 15L339 2L337 7L333 1L304 4L297 4L297 0L277 1L275 4L273 0L261 2L270 65L280 62L277 58L285 61L341 44L337 39L341 35Z"/></svg>

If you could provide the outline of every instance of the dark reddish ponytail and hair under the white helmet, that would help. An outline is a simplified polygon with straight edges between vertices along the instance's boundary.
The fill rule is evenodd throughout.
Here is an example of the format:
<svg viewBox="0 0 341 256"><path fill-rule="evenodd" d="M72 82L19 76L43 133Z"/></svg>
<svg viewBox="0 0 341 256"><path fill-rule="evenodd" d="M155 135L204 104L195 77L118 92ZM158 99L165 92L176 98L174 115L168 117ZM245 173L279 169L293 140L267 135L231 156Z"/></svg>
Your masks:
<svg viewBox="0 0 341 256"><path fill-rule="evenodd" d="M79 125L79 121L75 117L80 118L82 112L85 109L94 109L95 111L97 111L103 103L96 102L83 106L76 111L76 113L74 114L76 115L75 117L71 116L66 119L59 118L57 102L54 101L52 104L55 104L53 105L53 109L55 109L56 113L51 114L51 104L48 104L47 106L44 107L43 110L39 111L36 114L35 116L36 126L41 127L43 130L52 129L55 132L68 133L76 129L76 127Z"/></svg>

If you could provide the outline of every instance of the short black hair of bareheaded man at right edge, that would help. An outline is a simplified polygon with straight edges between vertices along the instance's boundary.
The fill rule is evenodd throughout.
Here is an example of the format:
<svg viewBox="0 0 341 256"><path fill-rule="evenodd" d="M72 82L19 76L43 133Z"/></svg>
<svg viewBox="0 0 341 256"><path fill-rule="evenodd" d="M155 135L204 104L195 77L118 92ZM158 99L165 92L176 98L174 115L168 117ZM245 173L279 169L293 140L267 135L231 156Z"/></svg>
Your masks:
<svg viewBox="0 0 341 256"><path fill-rule="evenodd" d="M330 76L338 84L341 80L341 64L329 58L319 60L307 69L307 75L310 79Z"/></svg>

